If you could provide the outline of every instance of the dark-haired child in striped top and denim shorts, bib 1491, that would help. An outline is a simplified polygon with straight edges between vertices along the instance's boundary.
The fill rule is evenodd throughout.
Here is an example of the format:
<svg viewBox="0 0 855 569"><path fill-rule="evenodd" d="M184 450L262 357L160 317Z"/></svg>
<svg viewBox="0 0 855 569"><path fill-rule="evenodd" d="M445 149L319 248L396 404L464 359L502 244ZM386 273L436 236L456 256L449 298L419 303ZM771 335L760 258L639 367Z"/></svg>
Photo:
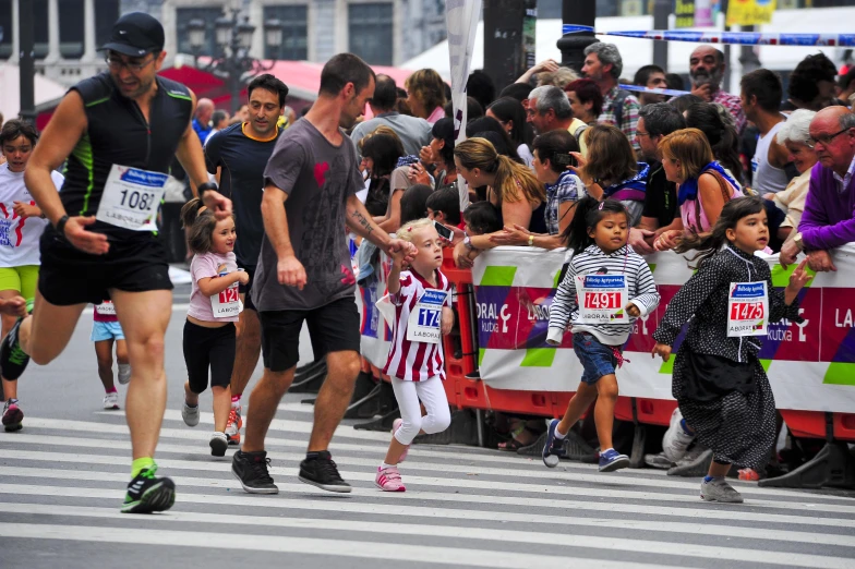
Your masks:
<svg viewBox="0 0 855 569"><path fill-rule="evenodd" d="M598 202L587 196L578 202L576 214L565 232L573 258L567 274L558 284L550 308L547 342L558 346L568 322L573 331L573 348L582 364L582 378L576 395L567 404L562 420L554 419L546 431L543 463L558 465L565 457L564 438L597 400L594 423L600 439L600 472L611 472L629 465L629 458L612 447L614 408L617 402L615 371L624 363L623 346L633 330L633 323L650 314L659 305L659 292L647 262L627 245L629 215L621 202ZM581 275L623 275L628 298L625 314L607 324L591 324L581 318L577 298L576 277ZM581 295L581 293L579 293ZM586 322L582 322L586 320Z"/></svg>

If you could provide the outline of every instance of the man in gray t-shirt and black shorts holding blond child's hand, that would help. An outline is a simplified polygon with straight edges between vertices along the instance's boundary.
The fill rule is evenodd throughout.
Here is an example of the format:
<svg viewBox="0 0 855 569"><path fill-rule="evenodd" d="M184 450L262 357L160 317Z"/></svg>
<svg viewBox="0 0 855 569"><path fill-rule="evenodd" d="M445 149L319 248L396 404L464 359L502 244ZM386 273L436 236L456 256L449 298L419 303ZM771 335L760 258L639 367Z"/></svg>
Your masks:
<svg viewBox="0 0 855 569"><path fill-rule="evenodd" d="M250 396L246 437L231 471L251 494L276 494L264 438L300 358L303 322L326 352L327 376L300 480L330 492L350 492L327 451L345 415L360 370L356 278L347 230L387 252L416 247L392 239L371 219L356 193L364 186L353 125L374 92L374 72L351 53L339 53L321 72L321 90L303 120L285 131L264 171L264 240L252 300L262 325L264 376ZM314 343L314 342L313 342Z"/></svg>

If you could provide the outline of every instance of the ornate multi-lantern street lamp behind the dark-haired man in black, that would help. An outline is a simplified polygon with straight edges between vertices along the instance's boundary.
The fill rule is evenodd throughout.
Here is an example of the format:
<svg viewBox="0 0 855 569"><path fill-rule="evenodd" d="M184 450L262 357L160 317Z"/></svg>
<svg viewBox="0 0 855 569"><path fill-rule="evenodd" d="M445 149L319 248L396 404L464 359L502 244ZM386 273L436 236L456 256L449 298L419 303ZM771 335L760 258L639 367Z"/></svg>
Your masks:
<svg viewBox="0 0 855 569"><path fill-rule="evenodd" d="M240 15L240 10L231 9L229 15L218 17L214 24L218 53L200 65L198 57L205 46L206 28L204 20L188 22L190 48L193 50L197 69L226 80L231 96L231 112L234 113L240 109L240 88L244 76L248 73L254 75L269 71L276 63L276 59L265 63L250 56L255 26L250 24L249 17ZM264 39L267 47L280 47L282 45L281 22L268 20L264 24Z"/></svg>

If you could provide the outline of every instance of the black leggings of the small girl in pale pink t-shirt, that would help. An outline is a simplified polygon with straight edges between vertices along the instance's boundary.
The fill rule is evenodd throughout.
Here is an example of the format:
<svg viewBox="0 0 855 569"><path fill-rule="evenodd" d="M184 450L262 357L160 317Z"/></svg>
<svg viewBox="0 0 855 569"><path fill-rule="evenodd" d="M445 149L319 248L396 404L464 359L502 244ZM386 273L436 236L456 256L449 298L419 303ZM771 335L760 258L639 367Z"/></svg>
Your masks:
<svg viewBox="0 0 855 569"><path fill-rule="evenodd" d="M228 387L234 366L234 324L205 328L190 320L184 323L184 362L190 390L201 394L208 387Z"/></svg>

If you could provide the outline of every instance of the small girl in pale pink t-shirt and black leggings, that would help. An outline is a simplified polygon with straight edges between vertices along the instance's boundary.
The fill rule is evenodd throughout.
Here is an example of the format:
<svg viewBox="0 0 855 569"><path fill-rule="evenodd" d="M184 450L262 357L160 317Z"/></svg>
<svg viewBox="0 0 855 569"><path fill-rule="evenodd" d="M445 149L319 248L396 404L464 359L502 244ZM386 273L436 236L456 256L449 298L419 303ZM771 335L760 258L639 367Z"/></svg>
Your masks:
<svg viewBox="0 0 855 569"><path fill-rule="evenodd" d="M242 306L238 283L250 277L238 268L234 256L237 231L234 218L217 220L204 209L198 198L191 199L182 209L184 227L190 227L188 243L193 251L190 273L193 288L184 323L184 362L188 382L184 384L184 404L181 416L188 426L198 424L198 395L208 386L214 394L214 434L210 453L226 455L228 438L226 422L231 410L231 371L234 366L236 327ZM229 311L215 315L217 310Z"/></svg>

